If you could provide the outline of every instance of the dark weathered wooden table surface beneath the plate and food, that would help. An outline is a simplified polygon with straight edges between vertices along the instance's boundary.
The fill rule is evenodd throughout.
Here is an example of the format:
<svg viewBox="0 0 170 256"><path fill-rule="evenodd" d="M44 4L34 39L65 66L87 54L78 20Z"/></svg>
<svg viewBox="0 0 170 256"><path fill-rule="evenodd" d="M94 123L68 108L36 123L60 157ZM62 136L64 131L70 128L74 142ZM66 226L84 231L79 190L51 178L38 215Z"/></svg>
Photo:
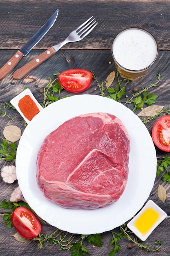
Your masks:
<svg viewBox="0 0 170 256"><path fill-rule="evenodd" d="M161 81L157 87L152 88L151 92L158 95L155 104L165 106L164 108L168 109L170 104L170 0L1 1L0 67L38 31L57 8L59 8L59 14L54 26L36 47L26 57L22 58L13 72L38 56L45 49L64 40L73 29L87 20L87 18L94 16L98 21L98 25L83 40L77 43L69 43L62 47L54 56L30 72L24 79L13 80L13 72L11 72L0 81L0 106L22 92L25 87L28 87L36 99L42 103L43 94L39 90L45 87L47 79L49 77L54 78L53 74L56 72L71 68L94 70L98 81L101 83L110 72L115 70L111 53L112 41L115 36L125 28L140 27L148 30L156 38L159 45L159 54L157 61L148 74L138 81L130 82L125 89L125 94L131 96L134 87L142 90L143 87L156 82L157 72L160 71L162 75ZM116 81L113 83L113 86L115 85ZM99 88L94 80L85 93L100 95ZM72 95L72 93L66 91L62 92L62 97ZM123 98L122 103L125 103L125 101L126 98ZM132 106L130 105L129 108L132 109ZM3 111L2 108L0 110ZM6 112L14 118L14 121L11 121L8 117L0 116L0 136L3 137L3 129L7 125L16 125L23 132L25 125L20 114L13 109L6 110ZM150 133L152 132L154 122L155 120L146 124ZM158 159L169 156L169 153L165 153L157 148L156 151ZM7 163L2 159L0 161L0 168L9 164L15 165L15 161ZM146 164L145 159L143 159L143 168L145 168ZM167 198L164 203L157 195L159 184L162 184L167 192ZM17 181L13 184L6 184L0 177L0 202L4 199L9 200L11 192L17 186ZM145 189L145 184L143 184L143 189ZM166 211L168 217L152 232L144 244L152 244L154 247L154 241L161 240L163 242L161 251L150 252L150 254L170 256L170 185L168 182L163 182L161 176L155 179L149 199ZM44 249L38 249L34 240L29 240L27 243L18 242L12 237L16 232L15 229L7 229L3 220L3 212L4 209L0 209L0 255L71 255L70 251L60 250L58 245L51 245L50 243L46 243ZM43 234L51 234L55 230L55 227L42 223ZM117 229L114 229L114 231L116 232ZM112 232L107 231L101 235L104 237L102 247L93 248L92 244L89 245L87 243L87 240L83 243L91 256L109 255L113 248L109 246L112 240ZM119 240L121 250L116 255L141 256L147 254L146 250L138 248L135 244L133 244L132 249L128 249L129 243L131 242L127 238Z"/></svg>

